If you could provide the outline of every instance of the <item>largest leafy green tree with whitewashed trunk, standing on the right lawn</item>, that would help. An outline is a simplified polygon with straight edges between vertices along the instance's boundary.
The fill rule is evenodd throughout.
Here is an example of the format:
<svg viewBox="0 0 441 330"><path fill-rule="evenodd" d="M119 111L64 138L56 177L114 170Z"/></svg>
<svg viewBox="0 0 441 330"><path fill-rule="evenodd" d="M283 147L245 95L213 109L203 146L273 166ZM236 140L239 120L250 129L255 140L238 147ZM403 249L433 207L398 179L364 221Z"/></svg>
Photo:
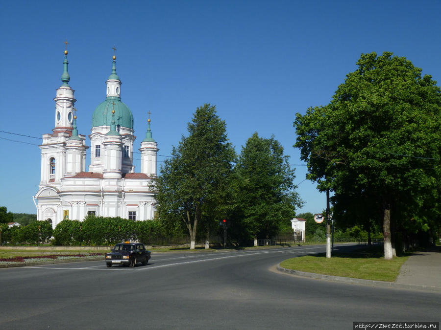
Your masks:
<svg viewBox="0 0 441 330"><path fill-rule="evenodd" d="M418 210L439 188L441 92L390 52L362 54L357 65L329 105L296 115L294 146L319 190L376 197L392 259L392 206L406 200Z"/></svg>

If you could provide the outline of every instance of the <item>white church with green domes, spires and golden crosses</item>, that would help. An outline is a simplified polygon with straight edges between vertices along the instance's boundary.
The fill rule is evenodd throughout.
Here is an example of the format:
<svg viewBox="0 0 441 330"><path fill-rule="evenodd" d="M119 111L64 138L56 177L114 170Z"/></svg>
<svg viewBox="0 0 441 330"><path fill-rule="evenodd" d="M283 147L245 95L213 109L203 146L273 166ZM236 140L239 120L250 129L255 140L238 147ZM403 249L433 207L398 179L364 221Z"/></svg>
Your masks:
<svg viewBox="0 0 441 330"><path fill-rule="evenodd" d="M76 127L74 90L69 86L68 51L64 52L62 85L56 90L55 127L43 134L41 181L34 196L37 220L53 228L62 220L83 220L87 215L151 220L155 217L152 179L156 176L157 143L150 119L141 142L141 172L133 166L133 114L121 101L121 80L113 56L106 81L106 99L92 116L89 172L86 172L86 136Z"/></svg>

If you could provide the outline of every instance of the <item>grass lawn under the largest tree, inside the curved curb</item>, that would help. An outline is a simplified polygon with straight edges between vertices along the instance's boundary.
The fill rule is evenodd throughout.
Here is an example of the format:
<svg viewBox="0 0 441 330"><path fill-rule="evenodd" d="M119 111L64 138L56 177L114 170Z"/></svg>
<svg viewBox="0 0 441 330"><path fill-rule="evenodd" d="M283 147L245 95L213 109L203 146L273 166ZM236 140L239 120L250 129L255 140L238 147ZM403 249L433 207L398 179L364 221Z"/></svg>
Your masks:
<svg viewBox="0 0 441 330"><path fill-rule="evenodd" d="M409 256L384 260L381 249L367 249L352 253L334 252L331 258L325 253L285 260L283 268L309 273L353 277L357 279L394 282L401 265Z"/></svg>

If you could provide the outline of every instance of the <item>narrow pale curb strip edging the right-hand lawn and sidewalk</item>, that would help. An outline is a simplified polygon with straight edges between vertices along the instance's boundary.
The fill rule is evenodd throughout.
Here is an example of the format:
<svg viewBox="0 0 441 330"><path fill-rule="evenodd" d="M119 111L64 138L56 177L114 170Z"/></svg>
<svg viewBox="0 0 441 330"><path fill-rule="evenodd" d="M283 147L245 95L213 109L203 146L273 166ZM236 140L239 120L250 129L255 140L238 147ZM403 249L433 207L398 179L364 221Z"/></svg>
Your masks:
<svg viewBox="0 0 441 330"><path fill-rule="evenodd" d="M373 281L373 280L362 280L355 279L352 277L342 277L342 276L332 276L316 273L308 273L300 270L287 269L277 265L277 270L282 273L288 273L301 277L308 277L317 280L326 280L332 282L348 283L348 284L358 284L373 287L385 287L385 288L397 288L397 289L408 289L408 290L422 290L431 292L441 292L441 287L438 286L419 286L415 284L400 284L395 282L384 282L384 281Z"/></svg>

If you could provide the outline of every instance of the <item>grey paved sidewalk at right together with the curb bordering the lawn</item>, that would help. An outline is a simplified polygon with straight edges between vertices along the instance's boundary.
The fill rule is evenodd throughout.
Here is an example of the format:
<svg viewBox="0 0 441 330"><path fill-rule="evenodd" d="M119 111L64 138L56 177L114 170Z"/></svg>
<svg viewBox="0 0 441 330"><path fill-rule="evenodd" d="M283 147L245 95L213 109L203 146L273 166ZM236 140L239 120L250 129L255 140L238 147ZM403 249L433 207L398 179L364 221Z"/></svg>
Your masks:
<svg viewBox="0 0 441 330"><path fill-rule="evenodd" d="M286 269L277 265L281 272L320 280L361 284L374 287L391 287L398 289L424 290L441 292L441 247L427 251L414 252L401 266L395 282L383 282L355 279L351 277L331 276L307 273L299 270Z"/></svg>

